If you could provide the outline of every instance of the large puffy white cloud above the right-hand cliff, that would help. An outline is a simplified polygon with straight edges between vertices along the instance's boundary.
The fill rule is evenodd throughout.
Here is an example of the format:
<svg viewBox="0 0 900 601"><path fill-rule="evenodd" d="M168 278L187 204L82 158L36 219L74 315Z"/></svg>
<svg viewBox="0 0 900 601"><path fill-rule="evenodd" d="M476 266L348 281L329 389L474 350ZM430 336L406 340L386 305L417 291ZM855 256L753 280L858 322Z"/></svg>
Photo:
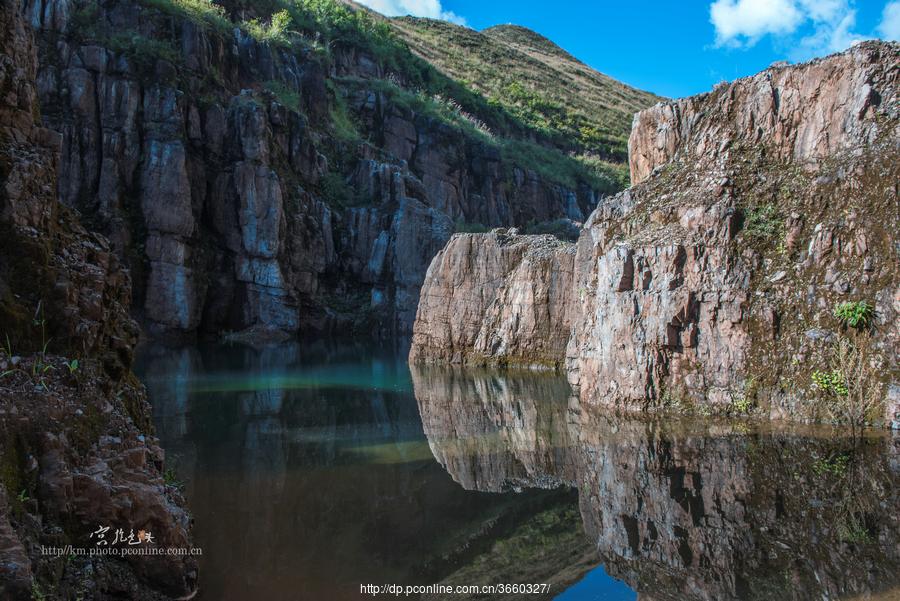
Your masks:
<svg viewBox="0 0 900 601"><path fill-rule="evenodd" d="M886 7L884 21L896 17L900 28L900 0L891 4L896 9L889 15L892 7ZM709 14L717 46L749 48L771 35L790 48L793 60L840 52L866 39L854 31L853 0L715 0ZM800 37L801 29L809 33Z"/></svg>

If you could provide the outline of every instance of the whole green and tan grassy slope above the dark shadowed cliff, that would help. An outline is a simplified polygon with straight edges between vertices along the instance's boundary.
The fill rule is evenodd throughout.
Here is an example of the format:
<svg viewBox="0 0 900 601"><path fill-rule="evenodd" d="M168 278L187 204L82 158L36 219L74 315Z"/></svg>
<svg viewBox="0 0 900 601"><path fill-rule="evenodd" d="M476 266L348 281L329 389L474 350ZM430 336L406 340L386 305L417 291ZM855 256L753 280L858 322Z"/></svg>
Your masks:
<svg viewBox="0 0 900 601"><path fill-rule="evenodd" d="M508 162L573 189L587 184L610 193L627 186L624 163L631 119L634 112L656 102L656 96L593 71L524 28L497 27L486 35L442 21L384 19L336 0L276 1L286 7L297 32L318 40L326 52L340 44L367 50L402 81L403 90L394 91L395 100L448 122L463 135L488 136ZM480 66L489 65L495 54L506 56L495 67L508 71L502 89L492 93L478 83L497 83L496 72L472 79L465 76L471 72L446 69L441 56L421 52L421 44L409 34L413 25L476 36L488 52ZM518 45L507 39L511 32L518 32L513 36ZM452 46L444 44L441 35L433 43L439 48ZM534 91L547 88L549 81L556 82L552 94Z"/></svg>

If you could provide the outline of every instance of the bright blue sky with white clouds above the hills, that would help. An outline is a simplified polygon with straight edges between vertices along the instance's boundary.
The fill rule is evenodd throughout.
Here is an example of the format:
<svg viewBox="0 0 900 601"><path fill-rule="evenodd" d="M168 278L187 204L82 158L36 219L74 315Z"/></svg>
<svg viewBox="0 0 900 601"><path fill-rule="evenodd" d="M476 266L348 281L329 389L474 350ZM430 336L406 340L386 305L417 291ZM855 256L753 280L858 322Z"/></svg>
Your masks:
<svg viewBox="0 0 900 601"><path fill-rule="evenodd" d="M357 0L360 1L360 0ZM533 29L616 79L669 97L709 90L776 61L800 62L855 40L900 38L900 0L362 0L474 29Z"/></svg>

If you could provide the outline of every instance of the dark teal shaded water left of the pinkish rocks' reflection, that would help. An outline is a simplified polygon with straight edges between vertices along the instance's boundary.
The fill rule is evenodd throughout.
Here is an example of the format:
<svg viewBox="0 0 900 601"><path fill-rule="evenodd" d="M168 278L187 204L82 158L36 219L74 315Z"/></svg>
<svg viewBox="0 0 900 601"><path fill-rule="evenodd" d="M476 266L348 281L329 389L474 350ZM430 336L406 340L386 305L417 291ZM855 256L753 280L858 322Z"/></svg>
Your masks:
<svg viewBox="0 0 900 601"><path fill-rule="evenodd" d="M571 488L453 482L423 434L405 357L147 347L139 373L195 517L202 599L360 599L360 584L467 568L557 594L597 565Z"/></svg>

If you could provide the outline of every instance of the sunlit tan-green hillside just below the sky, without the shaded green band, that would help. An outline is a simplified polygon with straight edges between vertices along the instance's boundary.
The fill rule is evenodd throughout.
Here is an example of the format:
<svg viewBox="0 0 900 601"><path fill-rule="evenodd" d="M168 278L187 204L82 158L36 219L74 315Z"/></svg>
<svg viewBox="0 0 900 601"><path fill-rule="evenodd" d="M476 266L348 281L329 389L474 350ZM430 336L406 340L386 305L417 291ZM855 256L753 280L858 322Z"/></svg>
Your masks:
<svg viewBox="0 0 900 601"><path fill-rule="evenodd" d="M625 161L632 116L660 100L524 27L479 32L433 19L390 22L415 54L567 152Z"/></svg>

